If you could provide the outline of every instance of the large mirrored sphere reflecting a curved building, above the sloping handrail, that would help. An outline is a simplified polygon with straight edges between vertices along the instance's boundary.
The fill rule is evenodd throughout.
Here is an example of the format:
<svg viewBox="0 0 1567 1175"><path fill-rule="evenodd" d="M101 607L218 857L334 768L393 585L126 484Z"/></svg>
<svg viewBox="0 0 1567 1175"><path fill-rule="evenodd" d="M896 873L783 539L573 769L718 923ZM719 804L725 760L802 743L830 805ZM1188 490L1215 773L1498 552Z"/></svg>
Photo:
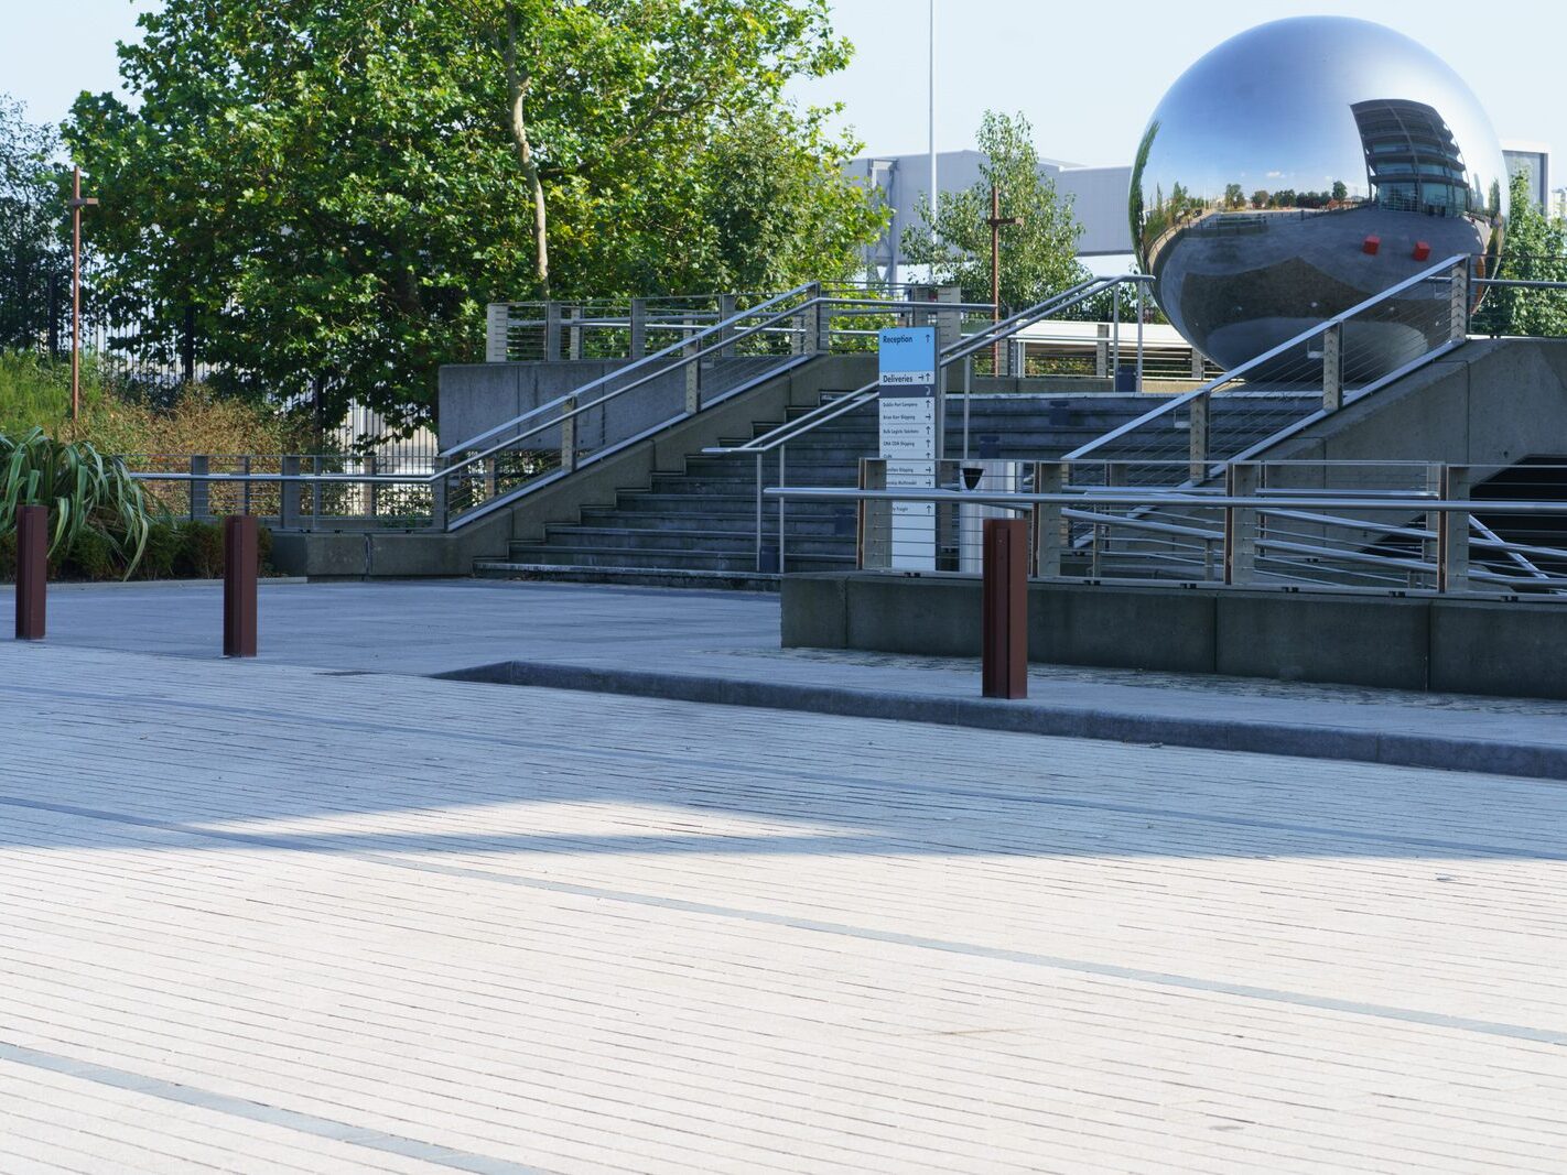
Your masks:
<svg viewBox="0 0 1567 1175"><path fill-rule="evenodd" d="M1446 257L1495 258L1506 191L1490 121L1443 61L1366 20L1294 17L1171 86L1131 233L1171 323L1232 368ZM1407 354L1384 343L1366 354Z"/></svg>

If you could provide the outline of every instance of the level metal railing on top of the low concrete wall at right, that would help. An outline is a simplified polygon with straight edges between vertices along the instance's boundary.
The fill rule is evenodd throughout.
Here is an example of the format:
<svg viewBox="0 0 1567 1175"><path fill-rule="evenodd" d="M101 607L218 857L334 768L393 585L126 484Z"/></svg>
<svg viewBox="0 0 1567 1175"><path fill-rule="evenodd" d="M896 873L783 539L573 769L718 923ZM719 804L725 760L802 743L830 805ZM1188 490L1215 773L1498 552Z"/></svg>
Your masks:
<svg viewBox="0 0 1567 1175"><path fill-rule="evenodd" d="M1200 489L1073 486L1070 464L998 464L1020 489L967 489L976 470L943 462L935 489L766 494L854 503L860 570L978 573L983 520L1012 515L1030 522L1040 578L1567 602L1567 465L1238 462L1225 487Z"/></svg>

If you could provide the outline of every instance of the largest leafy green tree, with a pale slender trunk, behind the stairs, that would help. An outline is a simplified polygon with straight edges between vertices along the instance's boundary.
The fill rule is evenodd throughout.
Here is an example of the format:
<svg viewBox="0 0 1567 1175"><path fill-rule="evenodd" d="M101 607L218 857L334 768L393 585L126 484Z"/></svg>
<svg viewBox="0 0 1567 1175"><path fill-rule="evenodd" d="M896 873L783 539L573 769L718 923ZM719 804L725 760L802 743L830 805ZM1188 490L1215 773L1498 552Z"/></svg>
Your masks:
<svg viewBox="0 0 1567 1175"><path fill-rule="evenodd" d="M141 28L133 100L66 128L110 295L169 343L190 307L279 400L428 418L487 301L843 276L879 230L856 144L784 99L848 58L826 0L166 0Z"/></svg>

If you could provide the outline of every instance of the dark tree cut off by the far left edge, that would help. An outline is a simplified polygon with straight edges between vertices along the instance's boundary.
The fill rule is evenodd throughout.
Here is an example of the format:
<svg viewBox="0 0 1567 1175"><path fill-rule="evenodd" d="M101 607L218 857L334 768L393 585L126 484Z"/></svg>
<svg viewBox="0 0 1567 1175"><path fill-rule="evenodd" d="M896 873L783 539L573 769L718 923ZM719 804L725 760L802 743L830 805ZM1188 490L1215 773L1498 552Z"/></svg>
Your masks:
<svg viewBox="0 0 1567 1175"><path fill-rule="evenodd" d="M0 348L34 346L67 296L60 139L0 94ZM50 307L50 285L55 306Z"/></svg>

